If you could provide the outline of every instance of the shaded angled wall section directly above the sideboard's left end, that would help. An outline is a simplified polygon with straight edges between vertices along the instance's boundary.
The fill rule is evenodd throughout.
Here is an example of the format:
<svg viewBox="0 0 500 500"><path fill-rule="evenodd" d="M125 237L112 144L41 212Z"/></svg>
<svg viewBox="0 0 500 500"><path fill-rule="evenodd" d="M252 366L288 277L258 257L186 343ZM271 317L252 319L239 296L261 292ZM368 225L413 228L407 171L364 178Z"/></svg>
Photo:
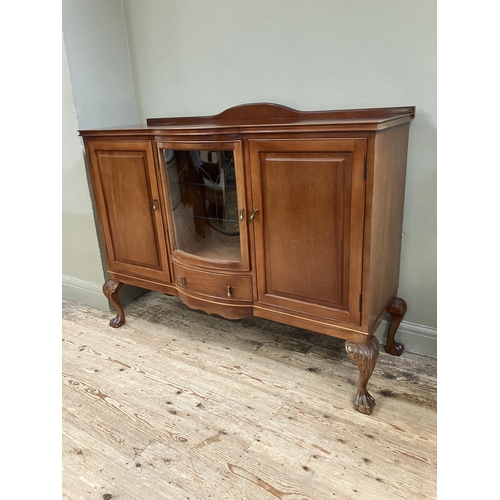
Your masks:
<svg viewBox="0 0 500 500"><path fill-rule="evenodd" d="M63 0L63 35L80 128L137 123L121 0Z"/></svg>

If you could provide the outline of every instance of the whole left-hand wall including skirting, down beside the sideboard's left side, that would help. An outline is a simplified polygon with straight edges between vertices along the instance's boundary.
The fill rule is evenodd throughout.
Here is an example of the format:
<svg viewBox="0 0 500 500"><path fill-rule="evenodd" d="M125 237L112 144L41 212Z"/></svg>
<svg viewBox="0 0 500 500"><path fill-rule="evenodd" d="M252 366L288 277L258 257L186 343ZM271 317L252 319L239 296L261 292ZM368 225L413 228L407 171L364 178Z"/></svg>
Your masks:
<svg viewBox="0 0 500 500"><path fill-rule="evenodd" d="M62 239L63 297L109 309L97 222L78 129L137 123L121 0L64 0ZM142 293L124 287L127 302Z"/></svg>

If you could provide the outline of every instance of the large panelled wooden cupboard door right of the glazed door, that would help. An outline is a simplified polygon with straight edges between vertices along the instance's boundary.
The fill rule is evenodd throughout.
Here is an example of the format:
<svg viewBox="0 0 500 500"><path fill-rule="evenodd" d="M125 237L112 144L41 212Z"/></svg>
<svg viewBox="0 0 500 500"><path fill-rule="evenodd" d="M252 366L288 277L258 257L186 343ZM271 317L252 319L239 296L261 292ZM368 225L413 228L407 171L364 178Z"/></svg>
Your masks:
<svg viewBox="0 0 500 500"><path fill-rule="evenodd" d="M360 324L364 139L249 140L257 302Z"/></svg>

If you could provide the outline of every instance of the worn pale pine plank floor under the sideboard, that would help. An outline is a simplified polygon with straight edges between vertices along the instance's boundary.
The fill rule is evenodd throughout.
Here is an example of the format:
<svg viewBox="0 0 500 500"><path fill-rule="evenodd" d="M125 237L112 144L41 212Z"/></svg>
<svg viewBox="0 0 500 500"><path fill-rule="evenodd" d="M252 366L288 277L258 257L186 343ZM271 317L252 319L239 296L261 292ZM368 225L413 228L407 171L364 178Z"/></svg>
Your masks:
<svg viewBox="0 0 500 500"><path fill-rule="evenodd" d="M381 352L371 416L344 342L148 292L63 301L62 493L96 500L436 498L436 360Z"/></svg>

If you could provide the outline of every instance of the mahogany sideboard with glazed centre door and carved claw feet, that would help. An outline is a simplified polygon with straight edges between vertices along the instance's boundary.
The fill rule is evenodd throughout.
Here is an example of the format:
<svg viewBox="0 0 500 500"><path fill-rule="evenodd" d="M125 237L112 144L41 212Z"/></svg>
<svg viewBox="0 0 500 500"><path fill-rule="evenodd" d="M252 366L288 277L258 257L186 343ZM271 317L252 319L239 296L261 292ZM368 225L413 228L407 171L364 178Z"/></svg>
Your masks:
<svg viewBox="0 0 500 500"><path fill-rule="evenodd" d="M302 112L246 104L218 115L80 130L109 280L228 319L258 316L346 340L354 406L391 316L396 330L405 173L415 108Z"/></svg>

